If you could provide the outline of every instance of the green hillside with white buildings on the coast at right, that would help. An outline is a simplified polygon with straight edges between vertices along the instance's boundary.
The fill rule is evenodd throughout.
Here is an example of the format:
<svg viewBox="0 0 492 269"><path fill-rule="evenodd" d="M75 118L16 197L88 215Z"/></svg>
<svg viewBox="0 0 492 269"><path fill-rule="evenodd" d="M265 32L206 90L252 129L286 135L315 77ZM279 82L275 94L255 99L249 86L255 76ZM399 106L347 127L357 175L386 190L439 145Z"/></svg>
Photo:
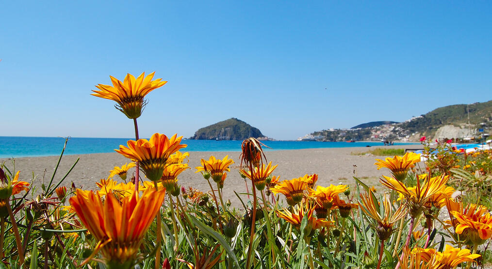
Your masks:
<svg viewBox="0 0 492 269"><path fill-rule="evenodd" d="M483 129L483 133L479 130ZM492 132L492 101L436 108L429 113L402 123L376 121L351 129L330 129L313 132L318 141L410 141L422 136L433 139L477 137ZM468 138L467 138L468 139ZM469 139L468 139L469 140Z"/></svg>

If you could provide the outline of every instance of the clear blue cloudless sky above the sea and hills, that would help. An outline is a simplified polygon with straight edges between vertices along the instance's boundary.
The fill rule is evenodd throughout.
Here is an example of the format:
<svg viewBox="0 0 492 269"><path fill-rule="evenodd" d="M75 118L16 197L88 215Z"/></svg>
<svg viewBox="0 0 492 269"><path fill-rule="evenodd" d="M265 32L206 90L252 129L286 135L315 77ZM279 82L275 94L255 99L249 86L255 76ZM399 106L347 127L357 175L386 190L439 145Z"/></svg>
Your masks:
<svg viewBox="0 0 492 269"><path fill-rule="evenodd" d="M3 1L6 136L132 137L109 75L155 71L141 137L276 139L492 99L491 1Z"/></svg>

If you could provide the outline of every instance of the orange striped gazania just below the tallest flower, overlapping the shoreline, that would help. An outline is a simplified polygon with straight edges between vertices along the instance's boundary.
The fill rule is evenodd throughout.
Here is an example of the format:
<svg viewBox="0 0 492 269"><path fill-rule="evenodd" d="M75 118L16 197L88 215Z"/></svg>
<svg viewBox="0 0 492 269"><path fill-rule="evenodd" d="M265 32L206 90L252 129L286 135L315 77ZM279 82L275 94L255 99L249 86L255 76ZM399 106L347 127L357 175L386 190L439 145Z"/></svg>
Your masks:
<svg viewBox="0 0 492 269"><path fill-rule="evenodd" d="M115 151L132 161L138 161L147 178L157 181L162 177L169 156L187 146L180 144L183 136L177 136L168 138L155 133L150 140L128 140L128 147L120 145L120 149Z"/></svg>

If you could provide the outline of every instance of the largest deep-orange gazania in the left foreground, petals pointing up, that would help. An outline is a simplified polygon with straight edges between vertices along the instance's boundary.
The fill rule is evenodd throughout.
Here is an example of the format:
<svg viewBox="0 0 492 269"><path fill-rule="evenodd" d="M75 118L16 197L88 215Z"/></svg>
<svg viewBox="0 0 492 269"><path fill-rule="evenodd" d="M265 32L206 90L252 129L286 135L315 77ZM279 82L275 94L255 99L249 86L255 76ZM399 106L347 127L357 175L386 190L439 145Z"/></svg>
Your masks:
<svg viewBox="0 0 492 269"><path fill-rule="evenodd" d="M92 236L99 241L95 252L101 252L109 268L130 268L138 249L164 200L165 190L147 189L141 197L133 193L121 201L113 195L104 203L99 194L90 192L85 198L77 189L70 204Z"/></svg>

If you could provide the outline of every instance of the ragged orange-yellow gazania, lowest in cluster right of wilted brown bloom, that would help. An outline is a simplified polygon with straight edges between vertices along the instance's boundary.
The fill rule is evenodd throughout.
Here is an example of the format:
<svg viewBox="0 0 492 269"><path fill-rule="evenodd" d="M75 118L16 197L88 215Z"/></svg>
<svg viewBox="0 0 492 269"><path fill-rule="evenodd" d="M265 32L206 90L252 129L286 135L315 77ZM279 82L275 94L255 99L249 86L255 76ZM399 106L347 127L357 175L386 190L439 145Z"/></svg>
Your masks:
<svg viewBox="0 0 492 269"><path fill-rule="evenodd" d="M277 215L278 217L291 223L296 229L301 228L303 218L307 217L307 226L304 231L306 235L309 235L312 230L319 229L321 227L333 226L333 221L314 217L314 206L310 205L307 201L305 203L301 203L300 205L296 205L292 211L293 213L284 208L281 211L277 210Z"/></svg>

